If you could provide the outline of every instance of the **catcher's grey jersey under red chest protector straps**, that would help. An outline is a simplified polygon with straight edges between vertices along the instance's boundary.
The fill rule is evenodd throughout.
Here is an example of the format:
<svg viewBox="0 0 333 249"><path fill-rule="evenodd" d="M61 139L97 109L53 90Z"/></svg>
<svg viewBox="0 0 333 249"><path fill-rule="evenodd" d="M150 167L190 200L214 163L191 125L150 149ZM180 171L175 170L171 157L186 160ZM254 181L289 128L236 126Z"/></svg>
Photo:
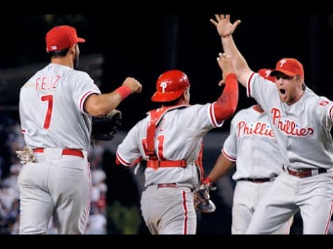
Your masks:
<svg viewBox="0 0 333 249"><path fill-rule="evenodd" d="M138 158L148 160L144 145L150 119L147 116L138 122L119 145L117 158L123 165L131 166ZM199 178L195 162L202 149L203 136L222 124L223 122L216 122L214 104L180 106L167 111L155 131L155 153L160 160L186 160L187 167L163 167L157 170L147 168L145 186L185 183L190 187L197 187Z"/></svg>

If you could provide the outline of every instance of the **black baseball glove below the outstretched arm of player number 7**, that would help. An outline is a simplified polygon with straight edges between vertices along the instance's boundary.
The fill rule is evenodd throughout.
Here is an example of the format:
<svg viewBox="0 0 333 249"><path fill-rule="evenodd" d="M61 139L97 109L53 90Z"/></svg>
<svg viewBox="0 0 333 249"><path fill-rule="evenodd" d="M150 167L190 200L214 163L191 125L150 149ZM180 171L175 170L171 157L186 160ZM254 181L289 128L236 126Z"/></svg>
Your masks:
<svg viewBox="0 0 333 249"><path fill-rule="evenodd" d="M96 140L112 140L121 126L121 111L114 109L103 117L92 117L92 138Z"/></svg>

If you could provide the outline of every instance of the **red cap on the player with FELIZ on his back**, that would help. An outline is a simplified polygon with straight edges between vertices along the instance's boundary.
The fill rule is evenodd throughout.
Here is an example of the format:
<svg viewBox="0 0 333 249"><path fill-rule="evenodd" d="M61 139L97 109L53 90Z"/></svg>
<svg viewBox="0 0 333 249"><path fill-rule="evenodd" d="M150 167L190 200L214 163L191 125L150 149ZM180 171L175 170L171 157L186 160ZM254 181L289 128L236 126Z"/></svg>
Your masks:
<svg viewBox="0 0 333 249"><path fill-rule="evenodd" d="M56 26L46 34L46 48L51 52L70 48L78 42L85 42L85 39L78 38L76 29L71 26Z"/></svg>

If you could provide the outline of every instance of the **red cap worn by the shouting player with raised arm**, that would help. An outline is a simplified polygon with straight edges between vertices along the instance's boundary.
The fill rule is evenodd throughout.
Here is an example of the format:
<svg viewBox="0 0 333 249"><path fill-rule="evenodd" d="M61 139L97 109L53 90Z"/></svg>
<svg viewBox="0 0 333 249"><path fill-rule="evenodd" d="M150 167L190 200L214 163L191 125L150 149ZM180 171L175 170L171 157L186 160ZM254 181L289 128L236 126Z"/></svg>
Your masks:
<svg viewBox="0 0 333 249"><path fill-rule="evenodd" d="M275 70L271 73L271 76L278 75L278 72L284 73L288 76L296 76L304 77L304 69L300 62L297 59L292 58L284 58L280 59L278 64L276 64Z"/></svg>

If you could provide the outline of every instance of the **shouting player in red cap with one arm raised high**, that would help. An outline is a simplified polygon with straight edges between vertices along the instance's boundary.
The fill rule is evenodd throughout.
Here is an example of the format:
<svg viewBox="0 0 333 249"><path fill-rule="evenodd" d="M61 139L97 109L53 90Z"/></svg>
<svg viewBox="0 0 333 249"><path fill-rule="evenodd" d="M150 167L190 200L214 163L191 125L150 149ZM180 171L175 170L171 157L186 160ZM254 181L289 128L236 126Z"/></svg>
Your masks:
<svg viewBox="0 0 333 249"><path fill-rule="evenodd" d="M237 79L267 113L281 154L283 172L267 190L246 233L272 233L300 210L303 234L327 234L333 203L333 102L305 86L297 59L280 59L271 73L275 86L267 84L234 44L232 33L241 21L232 24L230 15L216 15L211 22L235 63Z"/></svg>

